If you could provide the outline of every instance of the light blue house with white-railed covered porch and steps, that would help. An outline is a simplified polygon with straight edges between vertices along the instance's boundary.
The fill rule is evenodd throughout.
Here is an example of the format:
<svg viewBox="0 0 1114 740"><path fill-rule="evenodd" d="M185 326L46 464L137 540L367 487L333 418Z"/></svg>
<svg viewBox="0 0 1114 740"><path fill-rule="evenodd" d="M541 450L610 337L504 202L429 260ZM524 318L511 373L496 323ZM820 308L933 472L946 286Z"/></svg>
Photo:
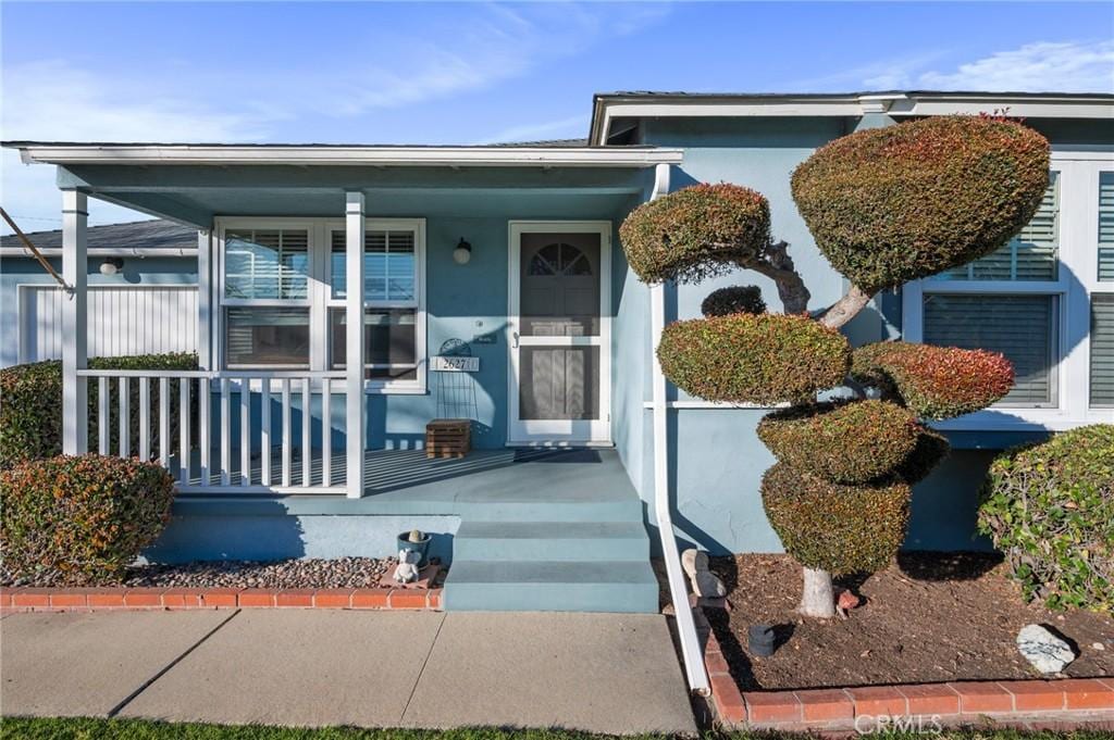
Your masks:
<svg viewBox="0 0 1114 740"><path fill-rule="evenodd" d="M780 549L759 496L765 410L668 387L653 342L719 285L760 285L780 306L754 274L641 284L618 244L624 217L698 181L755 188L822 307L843 279L797 213L793 168L859 129L1003 109L1053 142L1037 217L971 266L879 295L846 329L859 344L979 346L1015 364L1004 402L940 425L956 450L916 491L907 546L961 550L985 546L971 539L976 491L995 450L1114 421L1114 96L632 92L596 96L586 141L6 146L55 165L62 191L76 288L61 303L66 450L155 454L180 480L153 555L383 555L417 526L452 559L449 609L652 611L652 542L678 593L663 527L681 546ZM167 277L129 273L130 258L99 275L88 197L196 231L196 263L176 269L198 286L202 369L86 369L87 286ZM139 384L160 413L145 405L143 438L110 450L120 410L101 392L87 438L89 384ZM172 395L206 401L182 433ZM426 424L443 416L472 420L471 454L426 457Z"/></svg>

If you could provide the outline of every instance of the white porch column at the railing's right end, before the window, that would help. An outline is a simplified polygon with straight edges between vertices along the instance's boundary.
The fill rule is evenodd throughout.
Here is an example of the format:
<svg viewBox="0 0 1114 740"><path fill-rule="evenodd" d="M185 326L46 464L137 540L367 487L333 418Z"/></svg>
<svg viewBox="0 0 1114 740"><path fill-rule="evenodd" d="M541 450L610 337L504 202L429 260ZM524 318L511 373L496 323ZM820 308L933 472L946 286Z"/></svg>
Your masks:
<svg viewBox="0 0 1114 740"><path fill-rule="evenodd" d="M345 438L348 496L363 495L363 194L346 193L344 205Z"/></svg>

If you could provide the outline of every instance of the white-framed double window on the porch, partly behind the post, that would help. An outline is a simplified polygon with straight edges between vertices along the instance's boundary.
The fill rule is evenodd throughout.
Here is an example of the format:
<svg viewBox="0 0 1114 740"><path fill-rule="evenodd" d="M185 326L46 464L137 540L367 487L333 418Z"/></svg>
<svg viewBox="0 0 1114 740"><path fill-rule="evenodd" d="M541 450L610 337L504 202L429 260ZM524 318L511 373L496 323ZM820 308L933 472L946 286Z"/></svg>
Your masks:
<svg viewBox="0 0 1114 740"><path fill-rule="evenodd" d="M424 221L367 219L368 388L423 392ZM343 220L221 219L221 343L229 369L343 369Z"/></svg>

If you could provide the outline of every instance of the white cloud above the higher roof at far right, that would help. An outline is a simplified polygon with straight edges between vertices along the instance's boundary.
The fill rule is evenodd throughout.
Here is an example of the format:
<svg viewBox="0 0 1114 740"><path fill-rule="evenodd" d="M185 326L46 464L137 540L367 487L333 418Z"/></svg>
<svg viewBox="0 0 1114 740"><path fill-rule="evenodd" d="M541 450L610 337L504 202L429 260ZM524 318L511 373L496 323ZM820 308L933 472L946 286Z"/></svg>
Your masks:
<svg viewBox="0 0 1114 740"><path fill-rule="evenodd" d="M917 79L921 87L939 90L1112 92L1114 41L1039 41Z"/></svg>

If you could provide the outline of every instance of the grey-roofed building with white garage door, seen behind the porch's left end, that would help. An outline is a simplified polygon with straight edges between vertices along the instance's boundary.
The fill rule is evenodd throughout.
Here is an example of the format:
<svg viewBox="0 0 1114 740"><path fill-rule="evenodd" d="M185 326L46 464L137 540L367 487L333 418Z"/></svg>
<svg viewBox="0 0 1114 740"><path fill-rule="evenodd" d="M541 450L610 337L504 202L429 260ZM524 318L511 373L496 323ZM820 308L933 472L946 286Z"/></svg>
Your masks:
<svg viewBox="0 0 1114 740"><path fill-rule="evenodd" d="M61 269L62 233L27 235ZM197 229L175 221L91 226L90 357L197 349ZM62 356L59 285L19 237L0 237L0 367Z"/></svg>

